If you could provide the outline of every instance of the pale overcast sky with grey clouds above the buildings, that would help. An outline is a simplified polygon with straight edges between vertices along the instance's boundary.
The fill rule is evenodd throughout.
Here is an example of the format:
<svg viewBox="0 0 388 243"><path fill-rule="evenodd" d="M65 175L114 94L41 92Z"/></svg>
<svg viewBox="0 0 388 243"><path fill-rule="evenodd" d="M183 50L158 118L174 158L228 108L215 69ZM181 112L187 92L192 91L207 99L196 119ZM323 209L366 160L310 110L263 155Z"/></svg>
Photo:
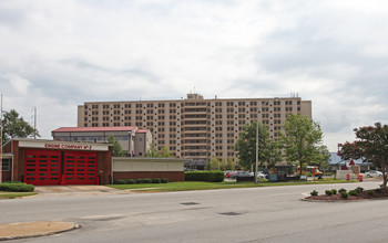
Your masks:
<svg viewBox="0 0 388 243"><path fill-rule="evenodd" d="M388 123L388 1L0 0L3 109L42 138L84 102L313 102L325 145Z"/></svg>

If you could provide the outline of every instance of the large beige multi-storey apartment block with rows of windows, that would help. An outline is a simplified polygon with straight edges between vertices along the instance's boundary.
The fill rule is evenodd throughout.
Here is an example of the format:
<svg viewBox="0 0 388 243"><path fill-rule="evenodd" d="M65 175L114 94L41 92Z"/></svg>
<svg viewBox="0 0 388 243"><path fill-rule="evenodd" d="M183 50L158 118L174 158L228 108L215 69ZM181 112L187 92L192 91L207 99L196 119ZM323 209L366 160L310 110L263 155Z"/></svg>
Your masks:
<svg viewBox="0 0 388 243"><path fill-rule="evenodd" d="M174 157L236 160L233 146L246 124L258 120L278 139L287 114L312 118L312 102L300 97L205 99L200 94L173 101L86 102L78 107L78 126L137 126L152 133L159 150L169 147Z"/></svg>

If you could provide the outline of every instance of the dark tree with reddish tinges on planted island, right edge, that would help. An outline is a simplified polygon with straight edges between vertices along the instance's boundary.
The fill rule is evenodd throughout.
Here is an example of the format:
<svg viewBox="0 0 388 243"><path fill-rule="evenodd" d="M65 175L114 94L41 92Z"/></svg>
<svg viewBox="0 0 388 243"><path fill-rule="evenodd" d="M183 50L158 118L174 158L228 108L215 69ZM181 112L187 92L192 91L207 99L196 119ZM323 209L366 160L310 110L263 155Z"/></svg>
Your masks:
<svg viewBox="0 0 388 243"><path fill-rule="evenodd" d="M355 129L354 142L339 144L338 156L343 159L359 159L372 162L382 172L382 187L387 188L388 126L376 123L375 126Z"/></svg>

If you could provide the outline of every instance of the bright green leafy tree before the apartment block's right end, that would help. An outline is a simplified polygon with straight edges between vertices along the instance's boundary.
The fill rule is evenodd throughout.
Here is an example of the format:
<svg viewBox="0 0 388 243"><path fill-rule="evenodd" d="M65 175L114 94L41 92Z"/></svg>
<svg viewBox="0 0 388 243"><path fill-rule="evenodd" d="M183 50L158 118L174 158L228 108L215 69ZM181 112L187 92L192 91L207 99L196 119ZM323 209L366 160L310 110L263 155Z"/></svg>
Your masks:
<svg viewBox="0 0 388 243"><path fill-rule="evenodd" d="M318 123L302 115L288 115L280 133L285 159L299 162L299 167L321 156L323 131ZM300 169L302 175L302 169Z"/></svg>

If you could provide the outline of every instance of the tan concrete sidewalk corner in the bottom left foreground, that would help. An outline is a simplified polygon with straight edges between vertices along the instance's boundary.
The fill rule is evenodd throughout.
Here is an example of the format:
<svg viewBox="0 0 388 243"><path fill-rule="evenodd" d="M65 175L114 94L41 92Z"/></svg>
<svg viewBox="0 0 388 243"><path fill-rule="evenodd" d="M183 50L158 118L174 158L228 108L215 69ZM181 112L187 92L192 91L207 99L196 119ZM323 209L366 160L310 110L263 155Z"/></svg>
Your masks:
<svg viewBox="0 0 388 243"><path fill-rule="evenodd" d="M0 241L58 234L79 228L79 224L72 222L51 221L1 224Z"/></svg>

